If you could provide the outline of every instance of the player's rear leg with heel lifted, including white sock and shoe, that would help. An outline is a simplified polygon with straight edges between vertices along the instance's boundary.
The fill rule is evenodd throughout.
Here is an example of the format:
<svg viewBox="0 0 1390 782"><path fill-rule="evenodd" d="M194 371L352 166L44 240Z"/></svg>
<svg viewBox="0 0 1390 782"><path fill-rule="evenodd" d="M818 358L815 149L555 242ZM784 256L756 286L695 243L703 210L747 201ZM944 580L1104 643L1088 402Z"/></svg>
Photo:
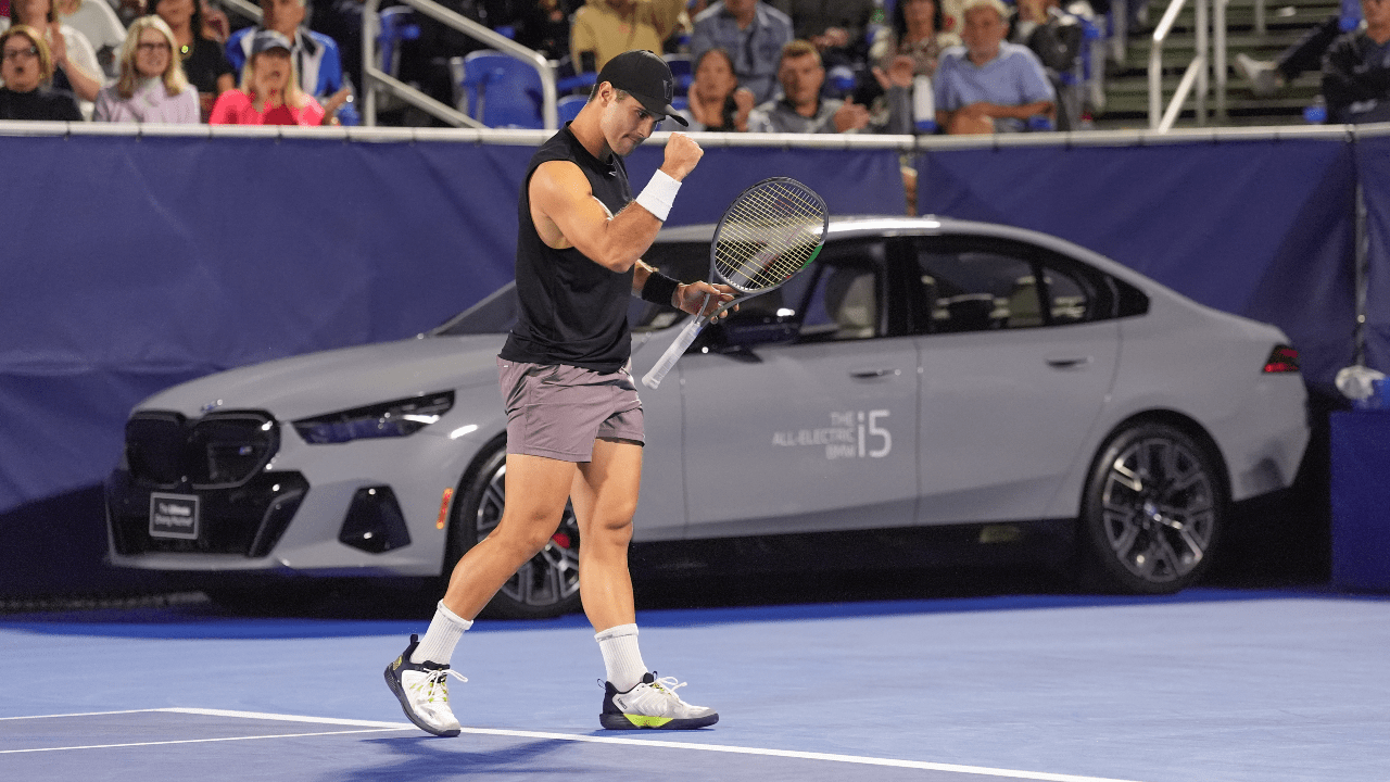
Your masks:
<svg viewBox="0 0 1390 782"><path fill-rule="evenodd" d="M463 679L449 668L453 648L502 584L555 534L574 473L574 462L507 454L502 520L455 565L425 637L410 636L410 646L386 668L386 686L424 731L459 735L446 686L449 675Z"/></svg>

